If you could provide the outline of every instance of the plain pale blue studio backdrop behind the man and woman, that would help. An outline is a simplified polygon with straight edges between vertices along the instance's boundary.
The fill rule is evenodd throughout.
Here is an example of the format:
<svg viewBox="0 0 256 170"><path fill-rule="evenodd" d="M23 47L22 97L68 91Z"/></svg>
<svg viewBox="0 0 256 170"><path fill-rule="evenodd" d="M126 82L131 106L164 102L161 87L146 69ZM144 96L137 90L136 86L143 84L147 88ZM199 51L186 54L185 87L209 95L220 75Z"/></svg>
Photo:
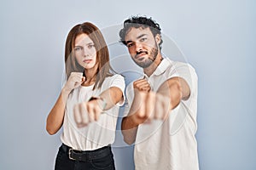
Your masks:
<svg viewBox="0 0 256 170"><path fill-rule="evenodd" d="M74 25L96 24L115 69L131 73L127 83L137 77L140 70L118 42L122 22L137 14L160 23L168 57L197 71L201 169L256 169L255 8L254 0L1 0L0 169L54 168L61 131L49 136L45 121L61 91L64 44ZM118 131L116 167L132 170L132 146L121 139Z"/></svg>

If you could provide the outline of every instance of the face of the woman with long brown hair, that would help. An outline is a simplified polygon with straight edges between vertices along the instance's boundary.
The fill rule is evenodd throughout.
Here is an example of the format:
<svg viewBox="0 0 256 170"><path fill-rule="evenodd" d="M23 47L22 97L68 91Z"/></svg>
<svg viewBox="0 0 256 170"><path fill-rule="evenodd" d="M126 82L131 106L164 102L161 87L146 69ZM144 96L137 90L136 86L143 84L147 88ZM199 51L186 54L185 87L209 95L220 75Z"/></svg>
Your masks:
<svg viewBox="0 0 256 170"><path fill-rule="evenodd" d="M96 65L96 48L90 37L83 33L75 39L75 58L84 69L94 69Z"/></svg>

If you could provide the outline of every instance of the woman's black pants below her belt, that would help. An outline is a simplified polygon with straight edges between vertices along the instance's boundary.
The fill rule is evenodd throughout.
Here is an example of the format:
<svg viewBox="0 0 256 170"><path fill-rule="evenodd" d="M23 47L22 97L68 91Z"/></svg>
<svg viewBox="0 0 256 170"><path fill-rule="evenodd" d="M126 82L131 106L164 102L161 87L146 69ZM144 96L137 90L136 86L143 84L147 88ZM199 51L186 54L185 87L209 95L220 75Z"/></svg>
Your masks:
<svg viewBox="0 0 256 170"><path fill-rule="evenodd" d="M87 161L71 160L68 152L62 144L55 160L55 170L115 170L111 149L108 156Z"/></svg>

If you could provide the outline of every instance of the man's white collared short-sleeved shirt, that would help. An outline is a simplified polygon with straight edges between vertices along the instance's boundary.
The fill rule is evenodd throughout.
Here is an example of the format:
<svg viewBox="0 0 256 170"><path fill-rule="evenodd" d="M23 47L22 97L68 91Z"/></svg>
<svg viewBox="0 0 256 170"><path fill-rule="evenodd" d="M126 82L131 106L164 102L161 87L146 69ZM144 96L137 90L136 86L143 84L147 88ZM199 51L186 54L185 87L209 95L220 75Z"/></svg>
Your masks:
<svg viewBox="0 0 256 170"><path fill-rule="evenodd" d="M161 61L154 73L147 77L151 90L171 77L182 77L190 88L190 96L170 111L165 122L154 120L141 124L137 129L134 149L136 170L198 170L195 133L197 129L197 76L191 65L174 62L168 58ZM126 88L127 106L131 108L134 97L132 83Z"/></svg>

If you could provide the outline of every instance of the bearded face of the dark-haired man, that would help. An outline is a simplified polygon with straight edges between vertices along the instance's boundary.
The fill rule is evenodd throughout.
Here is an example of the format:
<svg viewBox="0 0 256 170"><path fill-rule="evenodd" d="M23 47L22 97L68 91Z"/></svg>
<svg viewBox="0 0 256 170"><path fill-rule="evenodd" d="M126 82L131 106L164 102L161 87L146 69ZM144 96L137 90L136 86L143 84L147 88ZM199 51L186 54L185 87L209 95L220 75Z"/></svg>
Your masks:
<svg viewBox="0 0 256 170"><path fill-rule="evenodd" d="M131 27L125 36L125 42L131 59L143 68L151 65L159 53L157 42L149 27Z"/></svg>

